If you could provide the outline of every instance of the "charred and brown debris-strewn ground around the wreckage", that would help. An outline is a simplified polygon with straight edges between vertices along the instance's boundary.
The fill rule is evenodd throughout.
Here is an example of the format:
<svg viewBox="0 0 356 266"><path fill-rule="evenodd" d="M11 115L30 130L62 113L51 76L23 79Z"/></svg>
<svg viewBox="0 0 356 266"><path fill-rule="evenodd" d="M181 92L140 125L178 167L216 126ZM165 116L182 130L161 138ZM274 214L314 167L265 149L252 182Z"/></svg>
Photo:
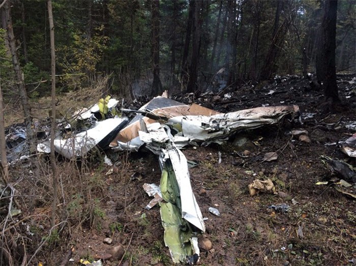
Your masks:
<svg viewBox="0 0 356 266"><path fill-rule="evenodd" d="M343 105L334 111L323 103L322 91L311 88L309 81L297 76L282 77L278 83L273 80L246 84L238 91L226 89L218 95L200 98L173 96L177 101L195 102L220 112L262 105L298 105L302 113L300 124L284 121L279 126L239 132L221 146L183 150L188 160L198 162L190 169L191 184L203 217L209 218L205 221L206 232L199 238L209 239L212 249L201 250L200 265L356 263L355 201L332 185L315 185L331 176L320 155L355 163L337 145L328 145L344 141L354 132L344 126L356 121L355 84L349 83L351 79L352 76L338 76ZM275 92L268 94L271 90ZM307 130L311 142L292 138L287 134L290 129ZM242 140L246 143L239 146ZM244 151L247 157L241 156ZM267 152L277 152L278 159L262 161ZM57 238L52 236L33 263L60 265L72 258L74 262L67 265L79 265L80 258L102 258L103 265L172 264L164 246L159 207L144 209L151 198L142 185L160 181L157 158L144 150L115 156L116 166L110 175L106 175L111 168L106 164L90 161L86 165L83 176L89 177L90 182L81 188L86 195L90 194L86 198L77 192L84 183L82 179L76 180L68 173L69 164L61 168L63 185L72 183L73 192L69 201L61 203L66 208L58 215L58 222L68 221L70 230L58 232ZM71 179L66 181L66 176ZM275 184L276 194L249 195L248 184L268 178ZM349 191L355 193L354 187ZM27 246L29 253L43 241L45 230L41 228L49 228L48 219L38 217L48 217L45 211L50 203L38 201L37 205L26 205L28 215L37 215L27 220L35 234L27 236L33 243ZM294 204L295 201L298 203ZM269 208L282 203L290 206L288 212ZM221 216L209 213L209 207L217 208ZM110 245L103 243L107 237L112 239ZM125 252L122 258L107 259L110 249L117 245L122 245ZM67 256L71 248L72 254Z"/></svg>

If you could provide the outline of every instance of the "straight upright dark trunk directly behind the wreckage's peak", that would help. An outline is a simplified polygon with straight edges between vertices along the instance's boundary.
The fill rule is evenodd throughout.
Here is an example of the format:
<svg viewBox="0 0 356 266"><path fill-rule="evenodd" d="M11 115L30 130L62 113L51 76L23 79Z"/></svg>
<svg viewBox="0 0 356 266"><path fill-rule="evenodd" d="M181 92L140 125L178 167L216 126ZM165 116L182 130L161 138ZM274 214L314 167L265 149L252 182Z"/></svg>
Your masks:
<svg viewBox="0 0 356 266"><path fill-rule="evenodd" d="M151 96L157 96L163 91L160 79L160 19L159 19L159 0L152 0L152 55L153 55L153 83Z"/></svg>

